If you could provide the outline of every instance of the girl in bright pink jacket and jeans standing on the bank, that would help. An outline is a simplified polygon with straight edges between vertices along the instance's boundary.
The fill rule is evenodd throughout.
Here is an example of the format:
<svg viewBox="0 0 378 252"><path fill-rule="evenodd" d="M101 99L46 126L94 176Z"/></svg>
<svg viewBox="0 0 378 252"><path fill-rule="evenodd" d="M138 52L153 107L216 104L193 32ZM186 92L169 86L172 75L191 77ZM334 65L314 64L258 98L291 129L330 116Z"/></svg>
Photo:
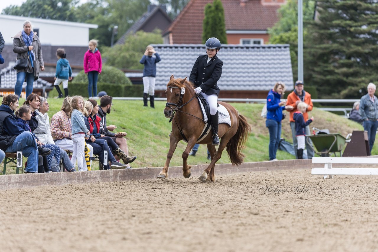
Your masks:
<svg viewBox="0 0 378 252"><path fill-rule="evenodd" d="M88 75L88 97L97 96L97 78L101 74L102 59L97 49L97 40L91 39L88 43L89 50L84 54L84 72Z"/></svg>

